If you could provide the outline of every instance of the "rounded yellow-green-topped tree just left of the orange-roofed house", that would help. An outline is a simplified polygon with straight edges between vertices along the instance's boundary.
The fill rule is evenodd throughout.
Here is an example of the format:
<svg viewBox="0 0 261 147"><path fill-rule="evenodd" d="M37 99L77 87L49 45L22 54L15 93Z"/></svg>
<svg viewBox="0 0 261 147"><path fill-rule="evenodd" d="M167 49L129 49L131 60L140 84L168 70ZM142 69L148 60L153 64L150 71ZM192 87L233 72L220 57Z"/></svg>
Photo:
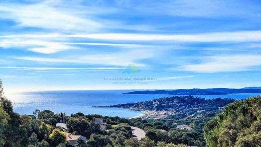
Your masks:
<svg viewBox="0 0 261 147"><path fill-rule="evenodd" d="M65 132L60 131L59 129L54 129L53 132L49 135L51 143L56 146L60 143L66 142L66 134Z"/></svg>

